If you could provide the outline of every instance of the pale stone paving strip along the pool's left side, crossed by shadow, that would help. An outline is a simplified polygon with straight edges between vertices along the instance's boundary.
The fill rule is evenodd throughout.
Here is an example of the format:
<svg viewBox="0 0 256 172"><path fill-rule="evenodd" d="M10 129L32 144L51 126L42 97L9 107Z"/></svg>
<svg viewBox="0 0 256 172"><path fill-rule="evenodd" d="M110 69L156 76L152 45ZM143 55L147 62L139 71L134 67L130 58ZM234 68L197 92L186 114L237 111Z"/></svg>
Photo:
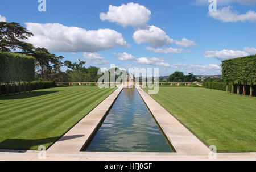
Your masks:
<svg viewBox="0 0 256 172"><path fill-rule="evenodd" d="M122 87L118 87L108 98L98 104L96 108L90 111L88 115L79 121L79 123L47 149L47 153L80 152L101 124L122 89Z"/></svg>

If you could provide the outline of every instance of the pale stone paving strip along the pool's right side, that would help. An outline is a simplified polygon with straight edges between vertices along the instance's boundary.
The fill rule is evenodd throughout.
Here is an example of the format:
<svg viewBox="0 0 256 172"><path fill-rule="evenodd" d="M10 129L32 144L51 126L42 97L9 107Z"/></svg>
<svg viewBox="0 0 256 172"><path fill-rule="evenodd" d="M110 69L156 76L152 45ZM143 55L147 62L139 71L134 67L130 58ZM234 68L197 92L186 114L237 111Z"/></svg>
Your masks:
<svg viewBox="0 0 256 172"><path fill-rule="evenodd" d="M197 139L146 91L141 87L137 87L137 90L177 153L193 155L208 155L210 153L210 150L203 142Z"/></svg>

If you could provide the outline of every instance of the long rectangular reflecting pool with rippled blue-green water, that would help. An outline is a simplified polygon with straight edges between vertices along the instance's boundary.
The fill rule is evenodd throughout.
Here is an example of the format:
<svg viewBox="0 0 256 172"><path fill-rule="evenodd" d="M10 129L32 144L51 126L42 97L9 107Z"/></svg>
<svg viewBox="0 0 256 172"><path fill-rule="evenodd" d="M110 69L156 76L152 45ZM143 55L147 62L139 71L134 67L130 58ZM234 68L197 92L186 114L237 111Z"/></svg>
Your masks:
<svg viewBox="0 0 256 172"><path fill-rule="evenodd" d="M174 152L174 149L137 89L123 89L83 151Z"/></svg>

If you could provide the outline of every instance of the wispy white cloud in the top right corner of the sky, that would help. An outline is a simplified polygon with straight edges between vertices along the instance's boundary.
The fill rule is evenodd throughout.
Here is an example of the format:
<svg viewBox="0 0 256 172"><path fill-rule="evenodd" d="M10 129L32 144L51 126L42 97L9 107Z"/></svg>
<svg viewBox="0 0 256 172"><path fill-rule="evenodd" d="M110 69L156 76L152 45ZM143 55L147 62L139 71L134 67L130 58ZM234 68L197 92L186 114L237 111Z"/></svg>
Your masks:
<svg viewBox="0 0 256 172"><path fill-rule="evenodd" d="M256 12L248 11L246 14L239 14L232 6L223 7L221 10L208 12L208 16L222 22L256 22Z"/></svg>

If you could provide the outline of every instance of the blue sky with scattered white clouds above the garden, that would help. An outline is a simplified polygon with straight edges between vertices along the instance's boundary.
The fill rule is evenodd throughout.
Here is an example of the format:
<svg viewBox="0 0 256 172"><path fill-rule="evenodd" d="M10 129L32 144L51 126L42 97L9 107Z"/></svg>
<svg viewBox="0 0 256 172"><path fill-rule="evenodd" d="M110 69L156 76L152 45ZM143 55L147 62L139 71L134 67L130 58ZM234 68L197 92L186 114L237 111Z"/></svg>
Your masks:
<svg viewBox="0 0 256 172"><path fill-rule="evenodd" d="M217 0L215 12L208 0L46 0L45 12L38 5L1 1L0 20L27 27L35 35L29 43L87 66L209 75L221 74L221 60L256 54L256 0Z"/></svg>

